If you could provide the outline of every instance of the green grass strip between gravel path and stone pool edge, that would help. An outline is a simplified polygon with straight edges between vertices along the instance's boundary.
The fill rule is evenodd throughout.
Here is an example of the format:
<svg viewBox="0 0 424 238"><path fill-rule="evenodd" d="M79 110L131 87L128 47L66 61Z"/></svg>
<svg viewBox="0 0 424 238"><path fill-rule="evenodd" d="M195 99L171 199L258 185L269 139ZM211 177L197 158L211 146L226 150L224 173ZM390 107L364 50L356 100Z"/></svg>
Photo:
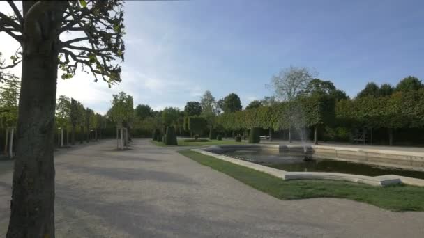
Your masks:
<svg viewBox="0 0 424 238"><path fill-rule="evenodd" d="M222 161L190 150L180 154L225 173L236 180L281 200L303 198L346 198L370 203L392 211L424 211L424 188L407 185L373 187L333 180L281 180L244 166Z"/></svg>

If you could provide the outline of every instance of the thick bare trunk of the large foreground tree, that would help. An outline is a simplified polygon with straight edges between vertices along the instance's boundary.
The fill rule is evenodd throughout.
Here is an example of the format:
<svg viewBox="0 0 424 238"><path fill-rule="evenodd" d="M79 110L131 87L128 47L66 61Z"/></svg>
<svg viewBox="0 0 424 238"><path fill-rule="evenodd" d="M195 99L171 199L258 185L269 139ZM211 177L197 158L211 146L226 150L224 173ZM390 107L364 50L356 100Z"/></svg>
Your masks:
<svg viewBox="0 0 424 238"><path fill-rule="evenodd" d="M54 108L59 56L56 32L68 3L56 1L47 5L49 9L29 11L36 2L22 1L23 15L28 19L23 29L8 238L54 238Z"/></svg>

